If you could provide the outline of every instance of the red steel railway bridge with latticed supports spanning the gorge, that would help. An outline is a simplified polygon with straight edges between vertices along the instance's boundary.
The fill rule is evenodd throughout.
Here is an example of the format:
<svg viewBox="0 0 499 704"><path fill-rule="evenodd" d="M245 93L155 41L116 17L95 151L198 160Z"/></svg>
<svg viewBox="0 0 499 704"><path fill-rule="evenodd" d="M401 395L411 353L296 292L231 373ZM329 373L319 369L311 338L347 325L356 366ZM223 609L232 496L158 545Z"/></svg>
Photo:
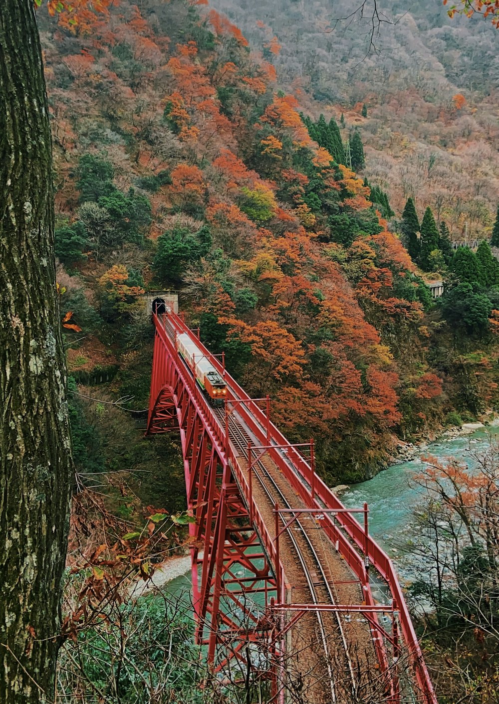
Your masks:
<svg viewBox="0 0 499 704"><path fill-rule="evenodd" d="M313 441L290 444L270 422L269 399L247 396L183 315L153 319L147 433L180 429L196 638L211 667L222 678L250 662L273 682L269 701L291 700L292 680L309 693L302 701L436 704L367 506L345 509L314 472ZM185 333L225 379L224 408L178 355Z"/></svg>

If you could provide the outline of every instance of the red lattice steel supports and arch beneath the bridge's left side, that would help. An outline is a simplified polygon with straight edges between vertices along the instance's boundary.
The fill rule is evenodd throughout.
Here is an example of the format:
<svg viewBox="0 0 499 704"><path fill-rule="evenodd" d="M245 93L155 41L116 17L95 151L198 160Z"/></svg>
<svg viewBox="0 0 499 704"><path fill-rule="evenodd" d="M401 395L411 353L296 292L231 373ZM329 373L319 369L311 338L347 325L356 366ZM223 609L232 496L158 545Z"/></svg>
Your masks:
<svg viewBox="0 0 499 704"><path fill-rule="evenodd" d="M150 398L147 434L180 431L187 508L195 519L189 534L196 640L220 671L233 658L245 661L245 646L262 639L276 578L228 462L223 429L157 327Z"/></svg>

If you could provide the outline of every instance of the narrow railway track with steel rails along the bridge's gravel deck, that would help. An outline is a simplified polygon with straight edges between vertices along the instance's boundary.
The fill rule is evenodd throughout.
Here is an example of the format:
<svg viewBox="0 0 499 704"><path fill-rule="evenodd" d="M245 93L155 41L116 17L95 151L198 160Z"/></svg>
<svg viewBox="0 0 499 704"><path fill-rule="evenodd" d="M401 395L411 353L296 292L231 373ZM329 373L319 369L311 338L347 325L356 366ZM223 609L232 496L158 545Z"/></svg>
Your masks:
<svg viewBox="0 0 499 704"><path fill-rule="evenodd" d="M213 412L218 422L223 427L225 422L223 409L214 408ZM238 449L238 452L242 455L244 460L247 455L248 442L253 444L252 437L234 417L229 418L229 434L230 441L233 443L233 446ZM290 505L285 493L281 487L278 486L277 477L273 476L271 468L266 466L261 459L257 460L252 466L252 471L253 476L259 482L259 486L261 486L262 491L264 491L269 506L272 509L276 501L278 501L281 508L297 508L296 505ZM276 473L278 473L278 470L276 470ZM316 527L312 530L316 530ZM292 526L285 529L285 533L292 545L295 558L297 558L300 564L302 574L304 574L309 591L309 603L338 603L338 595L335 593L334 584L331 584L331 577L328 577L326 574L323 561L314 547L314 541L307 531L304 520L297 518ZM300 589L300 587L295 586L295 589ZM304 595L304 601L308 600L307 596ZM300 601L302 601L301 596ZM350 657L350 648L345 636L342 618L338 612L325 613L316 611L315 615L319 641L324 650L324 662L328 675L327 680L330 691L328 691L327 694L331 696L333 703L351 702L355 700L355 692L357 691L358 683L352 664L352 658ZM333 652L333 648L335 652ZM335 670L338 667L339 656L343 659L343 670L347 670L348 679L350 679L350 687L348 688L345 687L345 684L341 687L338 686L338 677Z"/></svg>

